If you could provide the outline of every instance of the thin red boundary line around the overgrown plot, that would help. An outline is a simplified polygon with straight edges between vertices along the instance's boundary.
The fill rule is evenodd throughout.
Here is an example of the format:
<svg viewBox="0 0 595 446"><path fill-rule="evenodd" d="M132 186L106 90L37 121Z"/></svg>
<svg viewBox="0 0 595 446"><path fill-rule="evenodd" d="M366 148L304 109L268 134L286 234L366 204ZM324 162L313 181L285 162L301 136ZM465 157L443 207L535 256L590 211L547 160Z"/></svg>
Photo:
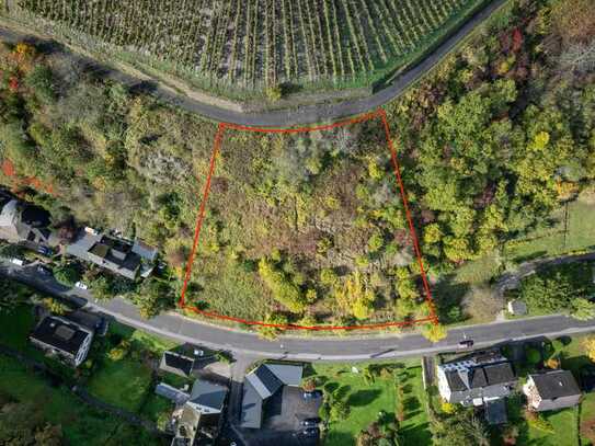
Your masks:
<svg viewBox="0 0 595 446"><path fill-rule="evenodd" d="M351 124L362 123L365 121L369 121L373 118L380 118L382 122L385 134L387 138L387 144L390 149L390 156L392 161L392 168L394 171L394 176L399 186L399 191L401 193L401 198L403 201L403 207L405 209L407 220L409 224L409 230L410 230L410 237L413 242L413 248L415 251L415 255L417 256L417 262L420 265L421 276L422 276L422 283L425 291L425 300L430 310L430 317L423 318L423 319L416 319L416 320L410 320L410 321L402 321L402 322L382 322L382 323L371 323L371 324L363 324L363 325L297 325L297 324L279 324L279 323L266 323L263 321L250 321L242 318L236 318L232 316L225 316L219 315L217 312L213 311L205 311L201 310L196 307L186 306L185 295L186 289L190 281L190 276L192 273L192 266L194 264L194 259L196 256L196 249L198 247L198 242L201 241L201 230L203 227L203 221L205 219L205 210L206 210L206 203L208 199L208 195L210 192L210 183L213 179L213 173L215 172L215 164L217 157L220 152L220 146L221 146L221 139L224 136L224 133L227 128L234 129L234 130L244 130L244 131L256 131L256 133L268 133L268 134L297 134L297 133L306 133L306 131L314 131L314 130L329 130L336 127L343 127ZM194 231L194 240L192 250L188 256L188 261L186 264L186 272L184 275L184 284L182 286L182 294L180 296L179 306L183 309L187 309L192 312L206 316L208 318L215 318L215 319L222 319L227 321L233 321L233 322L240 322L245 325L259 325L259 327L271 327L271 328L277 328L277 329L285 329L285 330L313 330L313 331L331 331L331 330L374 330L374 329L382 329L382 328L389 328L389 327L407 327L407 325L415 325L419 323L438 323L438 318L436 316L436 310L434 306L434 300L432 298L432 293L430 290L430 284L427 282L426 272L423 265L422 254L420 250L420 243L417 240L417 236L415 233L415 228L413 226L413 219L411 217L411 211L409 208L409 201L407 198L407 192L401 179L401 171L399 167L399 162L397 160L397 151L394 149L394 146L392 144L392 139L390 136L390 128L388 125L388 119L386 112L382 108L377 110L374 113L367 113L365 115L361 115L358 117L355 117L353 119L346 119L334 124L329 125L321 125L316 127L300 127L300 128L262 128L262 127L248 127L248 126L241 126L237 124L229 124L229 123L219 123L219 126L217 128L217 134L215 135L215 141L213 145L213 153L210 156L210 162L209 162L209 170L208 170L208 176L205 183L205 187L203 191L203 199L201 202L201 207L198 208L198 215L196 217L196 228Z"/></svg>

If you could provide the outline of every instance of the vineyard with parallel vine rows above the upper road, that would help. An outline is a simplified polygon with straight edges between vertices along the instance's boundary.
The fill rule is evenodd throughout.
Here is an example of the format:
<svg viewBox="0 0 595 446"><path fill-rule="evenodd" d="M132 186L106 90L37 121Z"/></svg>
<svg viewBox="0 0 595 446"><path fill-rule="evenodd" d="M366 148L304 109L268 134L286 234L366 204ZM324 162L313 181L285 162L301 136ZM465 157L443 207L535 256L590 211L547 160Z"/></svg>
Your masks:
<svg viewBox="0 0 595 446"><path fill-rule="evenodd" d="M420 56L481 0L18 0L206 88L367 85ZM14 10L14 8L12 9ZM81 41L84 42L84 41Z"/></svg>

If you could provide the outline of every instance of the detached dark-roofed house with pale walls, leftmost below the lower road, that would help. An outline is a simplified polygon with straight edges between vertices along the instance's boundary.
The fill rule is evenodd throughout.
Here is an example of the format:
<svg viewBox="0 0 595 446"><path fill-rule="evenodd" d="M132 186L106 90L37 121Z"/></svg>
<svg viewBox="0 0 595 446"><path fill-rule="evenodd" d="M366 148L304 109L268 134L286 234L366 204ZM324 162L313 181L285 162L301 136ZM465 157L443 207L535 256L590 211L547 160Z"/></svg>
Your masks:
<svg viewBox="0 0 595 446"><path fill-rule="evenodd" d="M66 317L48 316L31 333L30 340L46 353L78 367L87 358L93 334L92 329Z"/></svg>

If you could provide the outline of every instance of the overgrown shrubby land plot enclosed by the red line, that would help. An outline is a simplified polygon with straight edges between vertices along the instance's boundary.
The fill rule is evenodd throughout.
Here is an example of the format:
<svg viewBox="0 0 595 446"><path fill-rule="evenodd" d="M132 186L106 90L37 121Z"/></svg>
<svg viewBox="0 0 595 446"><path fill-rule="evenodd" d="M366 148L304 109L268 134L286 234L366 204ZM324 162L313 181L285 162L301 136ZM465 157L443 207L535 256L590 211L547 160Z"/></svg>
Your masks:
<svg viewBox="0 0 595 446"><path fill-rule="evenodd" d="M384 111L220 124L205 167L181 307L285 329L436 322Z"/></svg>

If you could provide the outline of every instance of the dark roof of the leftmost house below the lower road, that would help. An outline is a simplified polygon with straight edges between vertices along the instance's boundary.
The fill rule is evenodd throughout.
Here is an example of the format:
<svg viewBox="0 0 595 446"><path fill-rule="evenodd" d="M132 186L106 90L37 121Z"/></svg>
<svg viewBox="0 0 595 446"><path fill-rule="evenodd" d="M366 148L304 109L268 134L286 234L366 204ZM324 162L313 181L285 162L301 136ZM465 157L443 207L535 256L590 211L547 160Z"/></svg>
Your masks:
<svg viewBox="0 0 595 446"><path fill-rule="evenodd" d="M33 331L31 339L60 352L76 355L91 333L72 321L46 317Z"/></svg>

